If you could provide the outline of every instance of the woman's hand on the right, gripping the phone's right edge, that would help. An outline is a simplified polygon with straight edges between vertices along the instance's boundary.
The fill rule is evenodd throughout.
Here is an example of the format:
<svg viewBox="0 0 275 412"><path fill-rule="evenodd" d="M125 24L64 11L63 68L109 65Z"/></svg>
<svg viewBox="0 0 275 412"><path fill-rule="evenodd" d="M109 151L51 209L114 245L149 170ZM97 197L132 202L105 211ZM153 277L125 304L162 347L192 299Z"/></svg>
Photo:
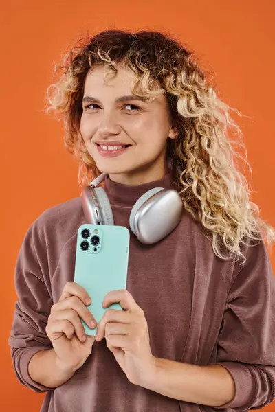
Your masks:
<svg viewBox="0 0 275 412"><path fill-rule="evenodd" d="M105 337L107 347L129 381L144 386L144 378L151 379L155 372L144 312L127 290L108 293L102 306L107 308L114 303L120 303L124 311L108 309L104 313L98 323L96 341Z"/></svg>

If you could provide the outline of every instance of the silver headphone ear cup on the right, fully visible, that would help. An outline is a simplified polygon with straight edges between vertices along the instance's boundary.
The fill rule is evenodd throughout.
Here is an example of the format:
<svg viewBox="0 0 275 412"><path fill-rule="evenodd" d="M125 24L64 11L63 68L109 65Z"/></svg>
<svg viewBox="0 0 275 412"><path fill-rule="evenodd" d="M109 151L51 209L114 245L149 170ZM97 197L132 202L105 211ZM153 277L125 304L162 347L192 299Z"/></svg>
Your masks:
<svg viewBox="0 0 275 412"><path fill-rule="evenodd" d="M155 187L141 196L130 215L131 231L144 244L159 242L179 224L182 200L176 190Z"/></svg>

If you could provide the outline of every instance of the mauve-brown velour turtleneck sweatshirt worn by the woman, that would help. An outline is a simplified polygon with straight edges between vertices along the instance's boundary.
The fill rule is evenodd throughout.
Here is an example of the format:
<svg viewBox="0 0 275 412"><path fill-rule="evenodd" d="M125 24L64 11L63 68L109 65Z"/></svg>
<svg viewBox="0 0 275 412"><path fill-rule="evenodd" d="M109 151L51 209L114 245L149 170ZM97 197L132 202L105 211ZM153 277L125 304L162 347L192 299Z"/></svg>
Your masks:
<svg viewBox="0 0 275 412"><path fill-rule="evenodd" d="M129 228L131 207L168 176L139 186L105 181L116 225ZM18 301L10 336L19 380L47 391L42 412L248 411L275 398L275 281L263 241L244 247L247 262L214 255L203 227L184 211L167 238L146 246L131 234L127 289L144 310L154 356L193 365L223 365L236 395L223 407L181 402L133 385L106 347L93 352L56 389L34 382L30 358L51 342L45 333L52 304L74 279L76 233L85 223L81 198L45 211L30 227L16 268ZM161 225L161 222L159 222Z"/></svg>

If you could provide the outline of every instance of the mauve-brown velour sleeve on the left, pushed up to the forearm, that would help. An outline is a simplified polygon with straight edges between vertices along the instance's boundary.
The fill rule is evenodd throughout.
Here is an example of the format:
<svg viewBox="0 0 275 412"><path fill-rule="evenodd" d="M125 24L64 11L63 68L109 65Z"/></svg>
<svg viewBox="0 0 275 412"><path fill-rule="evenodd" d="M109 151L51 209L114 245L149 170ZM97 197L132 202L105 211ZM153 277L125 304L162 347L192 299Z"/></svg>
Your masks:
<svg viewBox="0 0 275 412"><path fill-rule="evenodd" d="M28 364L32 356L36 352L52 348L45 332L52 299L45 284L47 259L43 258L43 253L46 255L45 245L43 247L32 225L23 240L15 268L18 300L15 304L9 345L17 378L36 392L51 390L34 382L28 374Z"/></svg>

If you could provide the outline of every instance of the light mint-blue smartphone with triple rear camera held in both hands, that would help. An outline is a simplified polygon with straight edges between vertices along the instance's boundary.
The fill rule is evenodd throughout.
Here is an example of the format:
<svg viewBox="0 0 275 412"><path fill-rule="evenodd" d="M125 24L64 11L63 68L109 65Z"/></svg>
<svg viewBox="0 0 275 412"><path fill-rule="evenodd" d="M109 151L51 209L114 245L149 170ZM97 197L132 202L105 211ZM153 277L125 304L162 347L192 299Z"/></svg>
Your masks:
<svg viewBox="0 0 275 412"><path fill-rule="evenodd" d="M74 282L82 286L91 305L87 306L99 323L107 309L122 310L120 304L102 308L104 297L112 290L126 289L130 233L123 226L81 225L76 241L76 265ZM81 320L85 333L96 335Z"/></svg>

